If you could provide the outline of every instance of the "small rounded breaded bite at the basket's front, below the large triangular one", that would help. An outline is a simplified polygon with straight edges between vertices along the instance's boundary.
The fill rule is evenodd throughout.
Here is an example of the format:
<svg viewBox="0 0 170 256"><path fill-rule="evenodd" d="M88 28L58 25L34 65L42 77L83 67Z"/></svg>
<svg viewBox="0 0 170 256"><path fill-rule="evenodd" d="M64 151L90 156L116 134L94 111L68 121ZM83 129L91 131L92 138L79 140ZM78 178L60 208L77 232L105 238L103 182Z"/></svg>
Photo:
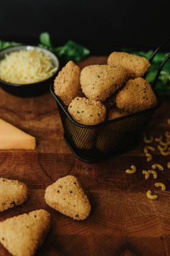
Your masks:
<svg viewBox="0 0 170 256"><path fill-rule="evenodd" d="M97 100L77 97L69 104L68 109L73 119L87 126L102 123L105 120L105 106Z"/></svg>

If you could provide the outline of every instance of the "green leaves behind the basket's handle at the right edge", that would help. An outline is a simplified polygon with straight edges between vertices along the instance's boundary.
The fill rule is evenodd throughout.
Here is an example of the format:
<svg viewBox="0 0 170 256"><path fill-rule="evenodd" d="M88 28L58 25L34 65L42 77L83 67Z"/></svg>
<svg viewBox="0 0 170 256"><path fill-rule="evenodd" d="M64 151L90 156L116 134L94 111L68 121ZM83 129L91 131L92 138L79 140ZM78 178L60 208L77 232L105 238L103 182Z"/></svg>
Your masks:
<svg viewBox="0 0 170 256"><path fill-rule="evenodd" d="M151 50L147 53L143 51L134 51L133 48L123 48L122 51L139 55L141 57L146 57L147 59L150 59L154 53L154 51ZM153 83L160 64L168 55L169 53L156 53L154 59L152 60L150 70L146 76L146 80L149 83ZM160 72L160 76L156 83L155 89L159 92L160 95L170 95L170 60L165 63L163 70Z"/></svg>

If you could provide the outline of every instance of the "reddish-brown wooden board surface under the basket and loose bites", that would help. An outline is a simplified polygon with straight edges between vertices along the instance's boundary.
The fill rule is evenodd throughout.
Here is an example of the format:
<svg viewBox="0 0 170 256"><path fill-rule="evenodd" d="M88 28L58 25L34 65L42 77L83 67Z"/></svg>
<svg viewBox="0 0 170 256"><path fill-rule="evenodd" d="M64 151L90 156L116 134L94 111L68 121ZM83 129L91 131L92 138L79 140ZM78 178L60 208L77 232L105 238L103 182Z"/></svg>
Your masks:
<svg viewBox="0 0 170 256"><path fill-rule="evenodd" d="M80 67L106 63L106 59L88 57ZM158 137L170 130L169 108L170 98L165 97L146 128L148 136ZM169 156L161 156L156 150L153 160L147 162L141 141L135 150L103 162L78 160L63 139L61 119L50 92L36 98L18 98L0 89L0 118L37 141L35 151L0 151L0 176L20 180L29 188L28 201L1 212L0 221L40 208L52 216L52 228L36 256L170 255ZM142 170L150 169L155 162L162 164L164 171L158 171L156 180L144 180ZM125 170L132 164L137 172L129 175ZM85 221L73 221L44 201L46 187L65 175L78 177L89 197L92 212ZM167 190L156 188L155 181L164 182ZM148 199L147 190L158 199ZM0 256L10 256L1 244Z"/></svg>

